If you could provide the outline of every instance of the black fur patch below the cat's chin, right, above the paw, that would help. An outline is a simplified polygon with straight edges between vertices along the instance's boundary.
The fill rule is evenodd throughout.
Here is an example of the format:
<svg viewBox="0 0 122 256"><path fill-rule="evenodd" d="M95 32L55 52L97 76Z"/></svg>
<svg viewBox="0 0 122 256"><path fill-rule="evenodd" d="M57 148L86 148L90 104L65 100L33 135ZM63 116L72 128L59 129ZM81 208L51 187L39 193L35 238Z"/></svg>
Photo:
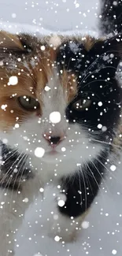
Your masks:
<svg viewBox="0 0 122 256"><path fill-rule="evenodd" d="M68 217L78 217L89 209L102 185L105 177L105 160L109 154L109 147L98 157L98 160L87 162L87 165L75 175L62 180L62 190L66 195L65 206L58 207L60 212Z"/></svg>

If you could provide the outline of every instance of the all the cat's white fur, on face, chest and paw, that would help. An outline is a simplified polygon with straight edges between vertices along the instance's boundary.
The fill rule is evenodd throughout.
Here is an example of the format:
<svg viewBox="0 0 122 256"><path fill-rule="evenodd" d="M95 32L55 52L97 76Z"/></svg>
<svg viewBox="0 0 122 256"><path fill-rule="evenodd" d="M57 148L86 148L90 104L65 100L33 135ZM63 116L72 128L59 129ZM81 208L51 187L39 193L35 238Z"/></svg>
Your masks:
<svg viewBox="0 0 122 256"><path fill-rule="evenodd" d="M102 150L102 146L91 146L87 133L81 126L68 124L66 121L66 95L57 77L54 72L53 79L49 78L50 91L43 92L43 116L41 118L32 114L31 118L20 125L20 128L11 128L9 132L0 133L1 139L8 139L8 144L11 147L17 146L20 152L30 155L30 165L35 174L34 180L29 180L24 184L20 195L13 191L9 191L5 195L6 190L0 191L0 202L5 202L0 213L0 231L2 231L0 233L0 255L2 256L9 255L8 250L13 250L12 231L19 227L25 210L33 201L34 196L39 195L39 188L50 180L54 180L54 184L56 184L61 176L75 173L78 169L82 171L83 163L94 158ZM52 124L49 120L50 113L53 111L61 113L61 121L57 124ZM57 146L55 155L50 153L52 149L43 137L43 134L50 131L55 136L60 136L62 132L66 136L66 139ZM45 150L43 158L35 157L36 147L43 147ZM62 147L65 147L65 152L61 151ZM28 198L28 203L24 202L24 198ZM20 216L20 214L22 215ZM59 230L57 224L59 224L61 238L69 240L76 231L77 221L72 224L71 219L61 216L61 213L58 214L60 215L59 220L54 221L50 233L53 232L54 235L57 235ZM68 232L65 227L68 228ZM9 235L9 241L12 243L8 242L6 234Z"/></svg>

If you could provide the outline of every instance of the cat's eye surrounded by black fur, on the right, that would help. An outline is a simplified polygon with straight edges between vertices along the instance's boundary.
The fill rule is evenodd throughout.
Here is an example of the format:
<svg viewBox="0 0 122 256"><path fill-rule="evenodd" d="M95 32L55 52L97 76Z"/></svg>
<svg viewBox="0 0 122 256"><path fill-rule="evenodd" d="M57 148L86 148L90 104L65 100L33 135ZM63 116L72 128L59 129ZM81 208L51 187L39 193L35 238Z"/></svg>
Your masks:
<svg viewBox="0 0 122 256"><path fill-rule="evenodd" d="M88 109L91 106L90 99L80 98L78 101L72 104L72 110L83 111L84 109Z"/></svg>

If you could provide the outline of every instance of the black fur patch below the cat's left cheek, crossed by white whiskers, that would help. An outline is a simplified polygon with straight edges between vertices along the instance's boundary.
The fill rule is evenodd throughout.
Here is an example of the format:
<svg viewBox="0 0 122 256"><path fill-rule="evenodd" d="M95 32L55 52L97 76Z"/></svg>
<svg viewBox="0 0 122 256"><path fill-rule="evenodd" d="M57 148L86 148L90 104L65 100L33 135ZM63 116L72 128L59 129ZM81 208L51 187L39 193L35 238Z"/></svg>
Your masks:
<svg viewBox="0 0 122 256"><path fill-rule="evenodd" d="M28 167L27 156L13 151L12 148L1 144L2 165L0 175L0 187L9 189L20 189L20 185L25 180L33 177L31 169Z"/></svg>

